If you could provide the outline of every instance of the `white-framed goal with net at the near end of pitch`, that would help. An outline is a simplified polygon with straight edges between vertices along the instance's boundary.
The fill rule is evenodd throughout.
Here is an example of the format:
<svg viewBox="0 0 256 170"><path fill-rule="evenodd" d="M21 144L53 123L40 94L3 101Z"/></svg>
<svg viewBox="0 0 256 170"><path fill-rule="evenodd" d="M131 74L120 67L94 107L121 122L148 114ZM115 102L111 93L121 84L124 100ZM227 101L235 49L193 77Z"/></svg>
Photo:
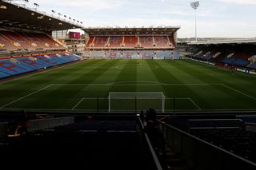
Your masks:
<svg viewBox="0 0 256 170"><path fill-rule="evenodd" d="M109 93L109 113L111 112L137 112L153 108L157 112L165 112L166 97L162 92L143 93Z"/></svg>

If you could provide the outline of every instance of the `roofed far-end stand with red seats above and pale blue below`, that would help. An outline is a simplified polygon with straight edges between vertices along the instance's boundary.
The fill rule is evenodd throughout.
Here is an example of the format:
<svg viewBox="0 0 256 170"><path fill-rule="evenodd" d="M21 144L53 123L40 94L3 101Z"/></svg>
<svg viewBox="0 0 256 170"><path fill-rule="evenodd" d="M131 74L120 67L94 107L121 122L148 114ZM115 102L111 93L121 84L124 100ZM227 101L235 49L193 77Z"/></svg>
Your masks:
<svg viewBox="0 0 256 170"><path fill-rule="evenodd" d="M178 28L104 28L84 29L89 38L86 40L84 57L104 58L179 58L174 40ZM106 51L103 55L91 50ZM136 51L136 52L134 52ZM158 53L157 51L162 51ZM136 54L138 53L138 54ZM155 54L158 53L158 56Z"/></svg>

